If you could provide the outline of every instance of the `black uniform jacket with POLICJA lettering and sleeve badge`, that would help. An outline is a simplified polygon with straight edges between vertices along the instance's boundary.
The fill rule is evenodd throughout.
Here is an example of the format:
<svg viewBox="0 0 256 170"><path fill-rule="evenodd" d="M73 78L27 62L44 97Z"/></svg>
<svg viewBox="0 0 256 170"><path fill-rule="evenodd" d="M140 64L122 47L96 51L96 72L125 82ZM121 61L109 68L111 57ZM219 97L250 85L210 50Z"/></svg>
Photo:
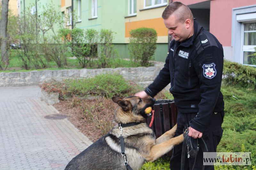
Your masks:
<svg viewBox="0 0 256 170"><path fill-rule="evenodd" d="M190 126L204 132L212 112L224 110L220 92L223 48L214 35L194 20L194 34L172 41L164 68L145 92L154 97L171 82L170 92L181 113L198 113Z"/></svg>

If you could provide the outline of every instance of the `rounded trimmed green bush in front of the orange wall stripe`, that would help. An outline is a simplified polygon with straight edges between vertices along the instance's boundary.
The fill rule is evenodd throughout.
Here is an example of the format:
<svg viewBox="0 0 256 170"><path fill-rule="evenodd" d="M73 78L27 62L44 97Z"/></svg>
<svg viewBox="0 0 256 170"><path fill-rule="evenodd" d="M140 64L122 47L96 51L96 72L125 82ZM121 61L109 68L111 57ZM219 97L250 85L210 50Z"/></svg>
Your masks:
<svg viewBox="0 0 256 170"><path fill-rule="evenodd" d="M138 28L130 31L130 58L141 66L150 66L156 50L157 33L153 28Z"/></svg>

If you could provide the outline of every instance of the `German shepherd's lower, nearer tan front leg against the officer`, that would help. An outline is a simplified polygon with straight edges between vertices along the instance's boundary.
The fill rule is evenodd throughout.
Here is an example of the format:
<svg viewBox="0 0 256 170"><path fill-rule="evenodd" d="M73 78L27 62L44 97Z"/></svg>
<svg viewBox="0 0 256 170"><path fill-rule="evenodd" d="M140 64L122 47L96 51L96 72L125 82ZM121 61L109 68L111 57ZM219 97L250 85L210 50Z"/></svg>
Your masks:
<svg viewBox="0 0 256 170"><path fill-rule="evenodd" d="M147 161L153 162L157 158L163 156L165 153L172 150L173 146L180 144L184 140L183 134L173 137L163 143L153 145L148 156L146 156Z"/></svg>

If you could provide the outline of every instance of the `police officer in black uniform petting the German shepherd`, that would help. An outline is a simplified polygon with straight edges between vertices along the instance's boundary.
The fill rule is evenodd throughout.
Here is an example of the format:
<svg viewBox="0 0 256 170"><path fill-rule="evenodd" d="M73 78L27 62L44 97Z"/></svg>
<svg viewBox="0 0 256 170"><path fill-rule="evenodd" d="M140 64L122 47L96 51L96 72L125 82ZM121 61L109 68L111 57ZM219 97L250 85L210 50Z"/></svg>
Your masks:
<svg viewBox="0 0 256 170"><path fill-rule="evenodd" d="M190 9L180 3L169 4L163 14L164 25L172 35L164 68L154 82L135 96L154 97L171 82L170 92L178 107L176 136L190 123L188 136L204 138L209 152L216 152L222 137L224 101L220 92L223 70L223 48L214 35L199 26ZM193 119L194 118L194 119ZM182 144L173 149L172 170L180 169ZM193 159L187 168L192 169ZM194 169L203 167L200 149ZM205 166L204 169L214 169Z"/></svg>

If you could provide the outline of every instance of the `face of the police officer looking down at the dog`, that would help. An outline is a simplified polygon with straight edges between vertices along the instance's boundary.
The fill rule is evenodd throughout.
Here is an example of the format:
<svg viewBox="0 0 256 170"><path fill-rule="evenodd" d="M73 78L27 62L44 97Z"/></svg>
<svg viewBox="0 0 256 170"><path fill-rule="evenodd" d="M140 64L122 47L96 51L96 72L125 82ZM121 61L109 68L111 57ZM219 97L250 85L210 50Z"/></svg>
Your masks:
<svg viewBox="0 0 256 170"><path fill-rule="evenodd" d="M168 28L168 33L172 35L175 41L184 41L191 36L190 20L185 22L177 21L175 14L170 15L169 18L164 19L164 25ZM188 21L189 20L189 21ZM188 23L189 22L189 23ZM192 33L193 35L193 33Z"/></svg>

